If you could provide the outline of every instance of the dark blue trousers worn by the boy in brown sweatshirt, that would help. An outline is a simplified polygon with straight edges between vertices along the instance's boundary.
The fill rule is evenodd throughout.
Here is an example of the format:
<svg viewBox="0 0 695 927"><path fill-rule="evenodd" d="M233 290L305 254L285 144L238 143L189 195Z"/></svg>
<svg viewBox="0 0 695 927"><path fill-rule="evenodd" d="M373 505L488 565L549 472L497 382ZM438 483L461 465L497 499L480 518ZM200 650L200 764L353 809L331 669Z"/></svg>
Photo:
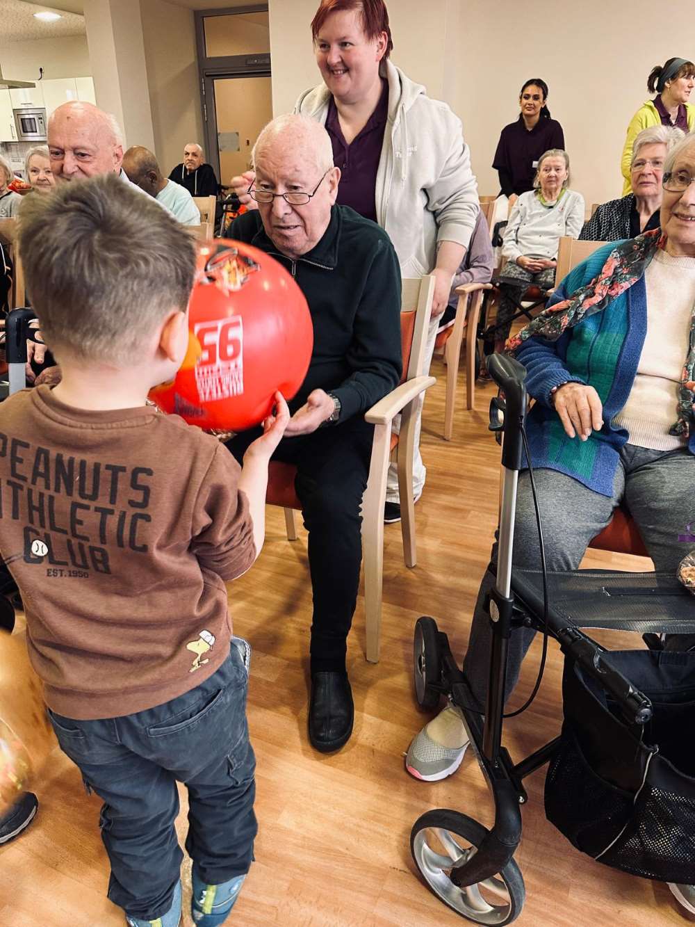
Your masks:
<svg viewBox="0 0 695 927"><path fill-rule="evenodd" d="M249 869L258 827L246 684L232 647L209 679L164 705L98 721L49 712L85 786L104 799L108 897L133 918L154 921L171 908L183 859L177 780L188 788L185 847L202 879L220 884Z"/></svg>

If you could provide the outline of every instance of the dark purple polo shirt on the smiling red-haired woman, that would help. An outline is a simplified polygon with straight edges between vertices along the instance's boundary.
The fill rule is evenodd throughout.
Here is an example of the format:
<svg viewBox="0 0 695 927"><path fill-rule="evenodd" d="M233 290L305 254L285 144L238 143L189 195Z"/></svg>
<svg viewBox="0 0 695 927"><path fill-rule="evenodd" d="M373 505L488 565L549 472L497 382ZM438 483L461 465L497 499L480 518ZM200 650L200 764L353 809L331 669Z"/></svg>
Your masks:
<svg viewBox="0 0 695 927"><path fill-rule="evenodd" d="M331 136L333 163L340 168L337 203L349 206L365 219L376 222L376 171L379 167L388 118L388 82L382 80L379 102L361 132L347 145L340 128L335 100L331 97L326 132Z"/></svg>

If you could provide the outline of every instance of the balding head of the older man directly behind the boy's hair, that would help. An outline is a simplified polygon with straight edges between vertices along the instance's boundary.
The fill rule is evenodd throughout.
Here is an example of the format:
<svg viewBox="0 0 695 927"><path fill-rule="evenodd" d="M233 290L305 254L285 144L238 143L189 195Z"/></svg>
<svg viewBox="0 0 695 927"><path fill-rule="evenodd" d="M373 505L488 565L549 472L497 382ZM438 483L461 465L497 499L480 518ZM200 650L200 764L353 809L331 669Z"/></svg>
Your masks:
<svg viewBox="0 0 695 927"><path fill-rule="evenodd" d="M93 103L73 100L48 120L48 152L58 181L119 173L123 139L114 116Z"/></svg>

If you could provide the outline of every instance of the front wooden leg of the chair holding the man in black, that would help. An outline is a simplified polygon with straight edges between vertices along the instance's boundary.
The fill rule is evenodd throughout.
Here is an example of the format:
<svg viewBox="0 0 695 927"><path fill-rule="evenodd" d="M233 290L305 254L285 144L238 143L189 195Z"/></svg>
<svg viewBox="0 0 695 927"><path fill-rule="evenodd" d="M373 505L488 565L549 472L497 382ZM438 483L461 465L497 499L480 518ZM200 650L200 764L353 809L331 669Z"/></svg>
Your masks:
<svg viewBox="0 0 695 927"><path fill-rule="evenodd" d="M390 459L391 425L374 425L372 461L362 499L362 561L364 564L364 613L367 631L366 657L379 662L384 582L384 503Z"/></svg>

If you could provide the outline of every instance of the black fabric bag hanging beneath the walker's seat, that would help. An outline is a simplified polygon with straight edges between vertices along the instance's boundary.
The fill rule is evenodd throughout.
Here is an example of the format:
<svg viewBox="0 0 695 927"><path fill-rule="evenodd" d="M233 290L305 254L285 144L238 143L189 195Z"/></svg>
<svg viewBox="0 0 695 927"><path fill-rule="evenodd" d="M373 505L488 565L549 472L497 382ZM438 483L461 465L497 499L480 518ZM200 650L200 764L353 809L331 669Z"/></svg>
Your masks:
<svg viewBox="0 0 695 927"><path fill-rule="evenodd" d="M545 784L546 816L588 856L661 882L695 883L695 654L605 654L651 699L629 725L574 661L565 660L564 720Z"/></svg>

